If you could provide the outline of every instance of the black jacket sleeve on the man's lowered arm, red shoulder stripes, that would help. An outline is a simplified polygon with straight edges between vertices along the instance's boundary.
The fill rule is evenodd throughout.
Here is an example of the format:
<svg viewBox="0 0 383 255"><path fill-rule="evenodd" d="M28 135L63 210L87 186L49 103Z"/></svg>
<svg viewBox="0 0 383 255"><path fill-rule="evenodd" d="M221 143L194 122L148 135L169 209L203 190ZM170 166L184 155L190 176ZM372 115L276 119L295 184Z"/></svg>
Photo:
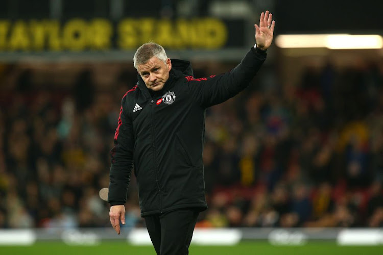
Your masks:
<svg viewBox="0 0 383 255"><path fill-rule="evenodd" d="M132 120L126 113L127 94L122 99L118 125L114 134L114 147L110 151L110 183L108 202L111 206L124 205L128 195L133 169L134 135Z"/></svg>

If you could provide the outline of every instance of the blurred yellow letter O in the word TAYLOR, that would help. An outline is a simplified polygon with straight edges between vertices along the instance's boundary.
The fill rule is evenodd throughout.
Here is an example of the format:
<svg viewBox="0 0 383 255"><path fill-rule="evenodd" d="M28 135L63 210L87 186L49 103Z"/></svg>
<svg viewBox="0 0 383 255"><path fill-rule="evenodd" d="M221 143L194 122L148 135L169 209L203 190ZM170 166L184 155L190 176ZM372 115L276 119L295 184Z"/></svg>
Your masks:
<svg viewBox="0 0 383 255"><path fill-rule="evenodd" d="M63 44L69 50L83 50L87 46L87 23L82 19L69 20L63 28Z"/></svg>

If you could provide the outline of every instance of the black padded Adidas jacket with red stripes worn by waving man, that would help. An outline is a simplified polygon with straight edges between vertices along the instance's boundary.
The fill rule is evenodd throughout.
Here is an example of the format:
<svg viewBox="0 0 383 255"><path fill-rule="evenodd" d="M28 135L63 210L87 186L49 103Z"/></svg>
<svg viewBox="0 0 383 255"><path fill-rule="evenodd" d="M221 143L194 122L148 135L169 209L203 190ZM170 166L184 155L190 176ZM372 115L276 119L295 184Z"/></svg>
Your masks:
<svg viewBox="0 0 383 255"><path fill-rule="evenodd" d="M139 78L122 99L111 150L108 201L126 202L134 165L141 216L178 208L207 208L202 151L205 110L245 89L266 53L252 48L230 72L195 79L187 61L172 60L161 94Z"/></svg>

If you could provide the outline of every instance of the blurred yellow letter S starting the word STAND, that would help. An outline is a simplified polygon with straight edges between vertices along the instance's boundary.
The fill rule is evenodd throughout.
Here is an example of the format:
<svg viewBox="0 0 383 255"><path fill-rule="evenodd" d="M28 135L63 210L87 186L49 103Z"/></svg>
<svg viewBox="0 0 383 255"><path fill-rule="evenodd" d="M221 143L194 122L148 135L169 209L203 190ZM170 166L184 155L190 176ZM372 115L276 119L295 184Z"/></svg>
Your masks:
<svg viewBox="0 0 383 255"><path fill-rule="evenodd" d="M137 31L135 25L137 21L134 19L124 19L118 23L118 39L117 43L121 49L135 49L139 40L137 38Z"/></svg>

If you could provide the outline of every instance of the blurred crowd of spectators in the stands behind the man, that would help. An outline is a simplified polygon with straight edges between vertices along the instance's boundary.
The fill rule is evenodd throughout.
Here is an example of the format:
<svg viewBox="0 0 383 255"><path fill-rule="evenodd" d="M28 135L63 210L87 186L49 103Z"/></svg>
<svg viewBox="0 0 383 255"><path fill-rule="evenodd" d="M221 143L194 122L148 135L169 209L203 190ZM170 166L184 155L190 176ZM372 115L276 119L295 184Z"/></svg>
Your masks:
<svg viewBox="0 0 383 255"><path fill-rule="evenodd" d="M209 209L197 226L383 226L382 66L307 67L297 84L276 77L260 72L207 110ZM98 192L134 72L108 90L89 70L67 90L29 78L0 88L0 228L109 227ZM126 208L126 226L143 226L134 174Z"/></svg>

